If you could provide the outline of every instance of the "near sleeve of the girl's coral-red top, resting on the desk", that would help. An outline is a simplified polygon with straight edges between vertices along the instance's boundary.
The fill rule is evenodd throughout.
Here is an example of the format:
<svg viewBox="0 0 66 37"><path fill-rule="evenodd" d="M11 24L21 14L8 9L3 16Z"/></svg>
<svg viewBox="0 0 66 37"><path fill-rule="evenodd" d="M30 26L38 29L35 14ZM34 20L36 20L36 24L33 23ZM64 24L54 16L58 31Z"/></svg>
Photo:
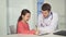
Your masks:
<svg viewBox="0 0 66 37"><path fill-rule="evenodd" d="M18 23L18 34L31 34L34 35L35 30L29 30L24 28L24 26L21 23Z"/></svg>

